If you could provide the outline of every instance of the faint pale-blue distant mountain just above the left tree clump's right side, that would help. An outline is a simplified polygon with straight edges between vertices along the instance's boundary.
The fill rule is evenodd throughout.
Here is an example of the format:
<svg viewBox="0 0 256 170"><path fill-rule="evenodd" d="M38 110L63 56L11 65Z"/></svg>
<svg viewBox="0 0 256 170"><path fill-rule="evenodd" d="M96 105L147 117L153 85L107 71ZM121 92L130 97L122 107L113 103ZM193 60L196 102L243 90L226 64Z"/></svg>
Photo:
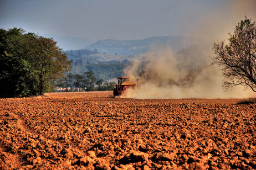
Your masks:
<svg viewBox="0 0 256 170"><path fill-rule="evenodd" d="M86 38L59 36L54 34L41 34L41 36L44 36L45 38L53 38L54 41L57 41L57 45L63 50L79 50L95 42Z"/></svg>

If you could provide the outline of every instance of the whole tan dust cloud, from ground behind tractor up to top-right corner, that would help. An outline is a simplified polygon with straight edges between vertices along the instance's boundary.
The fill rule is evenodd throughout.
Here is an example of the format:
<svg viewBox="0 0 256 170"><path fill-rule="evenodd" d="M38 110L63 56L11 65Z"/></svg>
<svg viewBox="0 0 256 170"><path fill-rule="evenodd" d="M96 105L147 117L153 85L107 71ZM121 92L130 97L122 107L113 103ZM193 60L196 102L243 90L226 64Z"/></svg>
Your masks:
<svg viewBox="0 0 256 170"><path fill-rule="evenodd" d="M125 75L136 82L139 90L127 89L122 98L181 99L181 98L248 98L256 94L243 86L232 91L222 88L223 77L217 66L211 65L214 41L228 38L244 15L253 18L256 1L229 1L228 9L206 14L191 26L185 36L196 43L187 49L173 52L170 47L153 47L140 60L125 69ZM224 16L224 17L223 17Z"/></svg>

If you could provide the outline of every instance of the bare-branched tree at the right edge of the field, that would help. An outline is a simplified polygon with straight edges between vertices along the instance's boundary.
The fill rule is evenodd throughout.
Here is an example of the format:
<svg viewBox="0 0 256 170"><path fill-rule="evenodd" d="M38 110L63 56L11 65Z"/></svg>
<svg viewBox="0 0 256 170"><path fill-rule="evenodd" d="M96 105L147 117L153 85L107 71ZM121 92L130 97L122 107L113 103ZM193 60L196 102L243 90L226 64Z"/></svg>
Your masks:
<svg viewBox="0 0 256 170"><path fill-rule="evenodd" d="M229 43L214 42L212 65L221 67L223 87L233 89L242 85L256 92L256 24L245 16L234 34L229 33Z"/></svg>

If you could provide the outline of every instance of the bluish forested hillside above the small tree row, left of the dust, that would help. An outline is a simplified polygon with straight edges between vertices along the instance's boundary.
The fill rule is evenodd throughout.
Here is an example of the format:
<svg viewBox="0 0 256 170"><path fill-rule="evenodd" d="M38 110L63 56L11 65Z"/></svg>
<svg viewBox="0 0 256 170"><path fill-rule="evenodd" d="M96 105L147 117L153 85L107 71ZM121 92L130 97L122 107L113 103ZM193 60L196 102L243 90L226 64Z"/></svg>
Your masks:
<svg viewBox="0 0 256 170"><path fill-rule="evenodd" d="M76 75L91 71L104 81L124 76L124 69L130 64L129 60L134 59L132 56L99 54L97 49L69 50L63 53L72 61L70 73Z"/></svg>

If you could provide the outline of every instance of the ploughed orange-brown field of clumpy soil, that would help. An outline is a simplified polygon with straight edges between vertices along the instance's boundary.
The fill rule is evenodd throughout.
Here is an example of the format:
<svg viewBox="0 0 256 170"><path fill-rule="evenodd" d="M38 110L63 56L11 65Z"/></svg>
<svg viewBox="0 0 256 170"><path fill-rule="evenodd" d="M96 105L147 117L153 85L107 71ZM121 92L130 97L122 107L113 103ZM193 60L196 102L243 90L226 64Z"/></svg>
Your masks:
<svg viewBox="0 0 256 170"><path fill-rule="evenodd" d="M256 169L256 104L238 102L0 99L0 169Z"/></svg>

